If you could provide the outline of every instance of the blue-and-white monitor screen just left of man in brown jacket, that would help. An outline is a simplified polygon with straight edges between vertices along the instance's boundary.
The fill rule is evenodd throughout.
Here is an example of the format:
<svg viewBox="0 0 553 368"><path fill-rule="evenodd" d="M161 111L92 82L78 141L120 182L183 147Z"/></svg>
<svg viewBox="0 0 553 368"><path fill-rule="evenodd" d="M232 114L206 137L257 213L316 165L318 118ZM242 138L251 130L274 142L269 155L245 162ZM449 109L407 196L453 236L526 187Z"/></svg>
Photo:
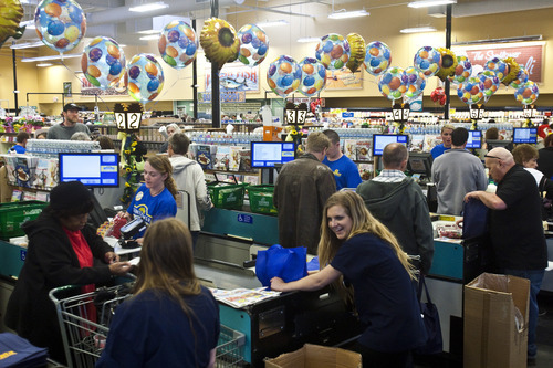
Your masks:
<svg viewBox="0 0 553 368"><path fill-rule="evenodd" d="M286 164L294 159L292 141L252 141L251 167L267 168Z"/></svg>

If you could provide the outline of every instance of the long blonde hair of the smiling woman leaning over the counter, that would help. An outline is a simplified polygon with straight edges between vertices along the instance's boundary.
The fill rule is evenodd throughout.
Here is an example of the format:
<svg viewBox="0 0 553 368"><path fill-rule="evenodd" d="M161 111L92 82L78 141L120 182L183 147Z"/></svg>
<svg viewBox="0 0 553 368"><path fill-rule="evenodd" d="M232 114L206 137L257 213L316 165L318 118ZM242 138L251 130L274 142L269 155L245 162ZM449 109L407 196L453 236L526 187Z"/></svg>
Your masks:
<svg viewBox="0 0 553 368"><path fill-rule="evenodd" d="M336 234L330 229L326 215L328 213L328 209L334 206L342 207L346 214L352 219L352 230L347 235L347 239L340 240L336 238ZM409 274L409 277L416 280L415 275L415 266L409 263L409 259L407 254L401 250L399 243L397 242L396 236L386 228L380 221L378 221L365 207L363 199L359 194L353 191L338 191L332 194L323 210L323 221L321 222L321 241L319 242L319 264L321 270L325 267L327 264L336 255L340 246L342 246L343 242L349 240L351 238L363 234L371 233L384 242L386 242L399 262L404 266L404 269ZM342 277L341 277L342 278ZM344 293L343 280L338 280L334 282L334 286L342 291L343 296L351 301L352 299L352 290L346 290ZM346 294L346 295L344 295Z"/></svg>

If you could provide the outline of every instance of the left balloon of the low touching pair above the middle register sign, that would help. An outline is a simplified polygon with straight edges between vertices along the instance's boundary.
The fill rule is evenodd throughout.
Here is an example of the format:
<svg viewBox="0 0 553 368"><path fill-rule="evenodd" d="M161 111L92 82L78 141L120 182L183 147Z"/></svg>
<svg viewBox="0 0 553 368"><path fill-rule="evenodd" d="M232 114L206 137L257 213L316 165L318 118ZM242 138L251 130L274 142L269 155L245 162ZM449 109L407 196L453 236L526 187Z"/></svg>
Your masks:
<svg viewBox="0 0 553 368"><path fill-rule="evenodd" d="M267 71L267 83L281 97L286 97L298 90L301 81L302 69L288 55L274 60Z"/></svg>

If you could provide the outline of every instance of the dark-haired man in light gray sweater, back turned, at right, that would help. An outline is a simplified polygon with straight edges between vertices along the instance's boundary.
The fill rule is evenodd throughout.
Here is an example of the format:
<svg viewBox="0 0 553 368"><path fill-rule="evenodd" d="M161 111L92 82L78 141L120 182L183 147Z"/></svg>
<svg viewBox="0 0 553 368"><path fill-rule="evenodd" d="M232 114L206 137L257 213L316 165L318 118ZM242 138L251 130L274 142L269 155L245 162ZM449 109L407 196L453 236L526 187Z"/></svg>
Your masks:
<svg viewBox="0 0 553 368"><path fill-rule="evenodd" d="M451 149L432 164L432 180L438 193L438 213L460 215L465 194L486 190L488 177L482 161L465 149L469 132L456 128L451 134Z"/></svg>

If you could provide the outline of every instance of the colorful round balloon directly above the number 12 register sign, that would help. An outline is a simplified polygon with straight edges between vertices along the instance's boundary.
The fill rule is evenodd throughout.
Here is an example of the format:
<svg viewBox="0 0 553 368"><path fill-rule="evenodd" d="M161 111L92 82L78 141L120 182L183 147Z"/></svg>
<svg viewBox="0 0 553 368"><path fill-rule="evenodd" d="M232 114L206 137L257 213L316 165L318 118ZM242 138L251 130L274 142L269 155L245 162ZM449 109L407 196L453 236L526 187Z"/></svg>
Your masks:
<svg viewBox="0 0 553 368"><path fill-rule="evenodd" d="M164 70L153 54L131 59L125 75L128 94L143 104L156 98L164 87Z"/></svg>

